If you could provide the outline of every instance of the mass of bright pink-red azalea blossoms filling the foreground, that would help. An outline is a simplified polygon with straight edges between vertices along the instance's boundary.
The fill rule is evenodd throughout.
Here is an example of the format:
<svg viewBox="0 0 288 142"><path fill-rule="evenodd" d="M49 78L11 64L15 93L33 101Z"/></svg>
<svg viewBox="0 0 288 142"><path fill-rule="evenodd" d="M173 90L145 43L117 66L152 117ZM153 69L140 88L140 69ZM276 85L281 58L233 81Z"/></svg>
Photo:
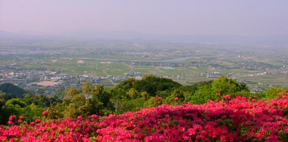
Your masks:
<svg viewBox="0 0 288 142"><path fill-rule="evenodd" d="M46 113L45 113L46 114ZM160 105L135 113L78 119L37 119L0 126L9 141L285 141L288 96L265 101L224 96L219 102ZM24 118L19 118L23 120ZM15 121L16 122L16 121Z"/></svg>

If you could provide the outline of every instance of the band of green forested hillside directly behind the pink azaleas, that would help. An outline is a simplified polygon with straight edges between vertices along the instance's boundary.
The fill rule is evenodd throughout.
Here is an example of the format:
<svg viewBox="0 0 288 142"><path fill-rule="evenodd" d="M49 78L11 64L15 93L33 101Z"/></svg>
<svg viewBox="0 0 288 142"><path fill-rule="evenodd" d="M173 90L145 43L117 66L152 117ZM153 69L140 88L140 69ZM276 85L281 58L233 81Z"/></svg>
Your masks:
<svg viewBox="0 0 288 142"><path fill-rule="evenodd" d="M11 84L3 86L8 86L4 87L3 92L15 95L5 97L7 93L0 93L2 124L7 123L10 115L35 120L43 116L43 111L49 112L46 117L49 119L86 117L93 114L106 116L135 112L161 104L178 105L187 102L203 104L209 100L217 102L227 94L230 98L245 96L270 100L279 92L285 91L284 88L269 88L266 92L250 93L245 83L224 76L214 81L199 82L190 86L151 75L144 76L142 80L131 78L109 89L104 89L103 85L93 86L85 82L82 90L68 88L62 93L51 94L49 98L37 94L25 94L21 88ZM25 96L22 96L23 94Z"/></svg>

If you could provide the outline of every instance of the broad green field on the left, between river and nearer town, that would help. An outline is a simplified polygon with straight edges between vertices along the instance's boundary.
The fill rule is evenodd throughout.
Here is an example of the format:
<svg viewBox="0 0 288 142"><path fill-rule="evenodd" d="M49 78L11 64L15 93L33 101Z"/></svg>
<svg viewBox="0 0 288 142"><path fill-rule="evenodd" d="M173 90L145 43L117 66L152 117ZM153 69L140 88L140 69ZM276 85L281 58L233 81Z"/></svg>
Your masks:
<svg viewBox="0 0 288 142"><path fill-rule="evenodd" d="M57 60L57 59L36 59L26 62L5 61L1 65L16 63L19 67L31 69L46 67L48 69L62 70L67 74L88 74L92 76L122 76L130 69L126 64L112 61L98 60Z"/></svg>

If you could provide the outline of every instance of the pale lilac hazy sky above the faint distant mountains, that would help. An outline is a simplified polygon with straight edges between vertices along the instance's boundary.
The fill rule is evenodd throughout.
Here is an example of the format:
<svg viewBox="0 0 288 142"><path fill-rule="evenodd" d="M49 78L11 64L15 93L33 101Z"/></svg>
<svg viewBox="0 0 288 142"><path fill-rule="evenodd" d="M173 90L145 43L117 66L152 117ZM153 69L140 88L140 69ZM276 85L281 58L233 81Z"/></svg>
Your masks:
<svg viewBox="0 0 288 142"><path fill-rule="evenodd" d="M287 36L287 0L0 0L0 30Z"/></svg>

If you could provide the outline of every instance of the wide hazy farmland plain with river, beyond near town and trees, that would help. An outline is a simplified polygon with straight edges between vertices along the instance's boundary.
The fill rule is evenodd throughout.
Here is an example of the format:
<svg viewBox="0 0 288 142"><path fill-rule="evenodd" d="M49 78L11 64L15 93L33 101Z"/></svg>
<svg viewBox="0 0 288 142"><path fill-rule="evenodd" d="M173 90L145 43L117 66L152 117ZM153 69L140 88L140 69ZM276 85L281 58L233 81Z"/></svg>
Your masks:
<svg viewBox="0 0 288 142"><path fill-rule="evenodd" d="M13 64L34 71L48 69L68 75L115 78L135 72L140 76L166 76L185 85L213 80L220 75L247 82L250 87L288 84L286 50L263 50L262 46L75 41L22 45L11 42L4 43L1 49L4 54L0 66Z"/></svg>

